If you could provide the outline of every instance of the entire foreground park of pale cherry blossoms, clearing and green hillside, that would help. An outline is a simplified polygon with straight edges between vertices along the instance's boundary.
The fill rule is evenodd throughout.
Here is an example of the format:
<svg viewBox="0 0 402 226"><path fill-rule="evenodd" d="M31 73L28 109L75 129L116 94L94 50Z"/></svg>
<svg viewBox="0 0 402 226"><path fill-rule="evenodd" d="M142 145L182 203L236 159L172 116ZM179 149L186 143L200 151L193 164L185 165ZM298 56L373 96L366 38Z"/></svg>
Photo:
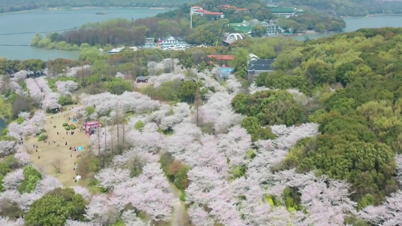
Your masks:
<svg viewBox="0 0 402 226"><path fill-rule="evenodd" d="M1 58L0 223L398 225L401 41L385 27ZM272 70L250 75L250 56ZM101 126L88 137L90 121ZM85 151L57 146L74 140Z"/></svg>

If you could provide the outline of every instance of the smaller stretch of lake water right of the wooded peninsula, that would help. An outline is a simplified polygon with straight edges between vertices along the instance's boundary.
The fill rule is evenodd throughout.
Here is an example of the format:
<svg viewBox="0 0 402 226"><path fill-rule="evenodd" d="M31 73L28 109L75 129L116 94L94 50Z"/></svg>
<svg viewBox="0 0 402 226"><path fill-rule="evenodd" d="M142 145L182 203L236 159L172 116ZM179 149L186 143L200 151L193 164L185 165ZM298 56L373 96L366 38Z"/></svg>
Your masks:
<svg viewBox="0 0 402 226"><path fill-rule="evenodd" d="M373 17L346 17L343 18L346 23L344 32L356 31L361 28L380 28L380 27L401 27L402 16L373 16ZM312 35L297 35L293 39L304 40L306 36L310 39L328 37L336 33L321 33Z"/></svg>

